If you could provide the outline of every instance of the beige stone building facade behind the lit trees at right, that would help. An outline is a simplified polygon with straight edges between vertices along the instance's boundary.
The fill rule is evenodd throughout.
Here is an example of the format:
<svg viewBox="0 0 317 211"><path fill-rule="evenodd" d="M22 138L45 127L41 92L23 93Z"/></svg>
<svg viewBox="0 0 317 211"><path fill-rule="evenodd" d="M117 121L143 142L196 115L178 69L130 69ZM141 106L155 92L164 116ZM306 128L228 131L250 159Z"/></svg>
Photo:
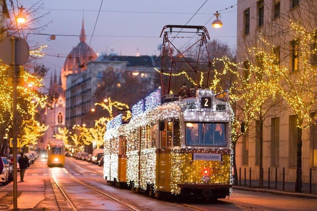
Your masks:
<svg viewBox="0 0 317 211"><path fill-rule="evenodd" d="M243 63L246 60L246 49L256 43L258 35L274 34L273 25L285 25L289 17L296 20L298 15L307 15L301 10L302 5L309 2L299 0L238 0L237 4L237 60ZM314 3L313 1L310 1ZM309 20L309 19L308 19ZM314 20L312 20L314 21ZM273 24L272 24L273 23ZM307 23L308 24L308 23ZM315 25L313 23L312 25ZM295 36L295 35L294 35ZM287 33L271 36L275 44L276 55L281 59L280 65L288 67L290 74L298 70L296 61L296 45L294 37ZM280 46L283 45L283 46ZM280 51L280 49L283 49ZM272 114L264 123L263 131L263 171L264 180L268 180L268 168L270 180L275 179L275 168L278 171L278 181L282 181L283 167L285 168L285 181L295 182L296 179L296 150L297 128L296 116L290 108L284 108L282 112ZM312 114L313 115L313 114ZM253 130L257 124L253 124ZM252 130L252 128L250 129ZM317 127L313 125L303 130L302 134L302 181L309 183L309 169L312 168L313 183L316 183L317 166ZM259 140L256 136L241 137L236 145L237 168L247 169L251 167L251 178L259 179ZM243 174L241 175L244 178Z"/></svg>

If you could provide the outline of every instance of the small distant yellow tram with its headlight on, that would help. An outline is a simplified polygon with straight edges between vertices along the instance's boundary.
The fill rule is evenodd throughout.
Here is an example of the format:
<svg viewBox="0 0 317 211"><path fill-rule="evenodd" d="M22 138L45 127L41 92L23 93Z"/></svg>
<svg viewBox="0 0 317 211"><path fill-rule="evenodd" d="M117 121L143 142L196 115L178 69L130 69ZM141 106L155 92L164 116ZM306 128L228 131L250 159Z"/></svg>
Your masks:
<svg viewBox="0 0 317 211"><path fill-rule="evenodd" d="M55 140L47 144L47 165L64 166L65 164L65 146L61 140Z"/></svg>

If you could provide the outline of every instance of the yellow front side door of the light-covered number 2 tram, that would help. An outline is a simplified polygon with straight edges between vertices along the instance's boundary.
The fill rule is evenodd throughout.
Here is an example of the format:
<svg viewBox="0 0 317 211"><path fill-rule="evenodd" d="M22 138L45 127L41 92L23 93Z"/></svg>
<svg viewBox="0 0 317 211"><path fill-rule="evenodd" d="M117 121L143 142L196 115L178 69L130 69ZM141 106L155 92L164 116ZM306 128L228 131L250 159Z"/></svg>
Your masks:
<svg viewBox="0 0 317 211"><path fill-rule="evenodd" d="M160 190L170 191L171 162L170 153L173 146L179 146L179 120L161 121L159 124L159 175L158 187Z"/></svg>

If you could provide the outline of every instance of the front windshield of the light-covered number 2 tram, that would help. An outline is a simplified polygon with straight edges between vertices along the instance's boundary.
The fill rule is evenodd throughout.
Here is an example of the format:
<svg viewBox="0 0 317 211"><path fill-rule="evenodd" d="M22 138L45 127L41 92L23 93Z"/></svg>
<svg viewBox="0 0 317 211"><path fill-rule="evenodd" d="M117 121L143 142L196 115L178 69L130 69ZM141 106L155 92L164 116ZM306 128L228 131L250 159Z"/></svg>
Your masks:
<svg viewBox="0 0 317 211"><path fill-rule="evenodd" d="M186 122L187 146L226 146L226 124Z"/></svg>

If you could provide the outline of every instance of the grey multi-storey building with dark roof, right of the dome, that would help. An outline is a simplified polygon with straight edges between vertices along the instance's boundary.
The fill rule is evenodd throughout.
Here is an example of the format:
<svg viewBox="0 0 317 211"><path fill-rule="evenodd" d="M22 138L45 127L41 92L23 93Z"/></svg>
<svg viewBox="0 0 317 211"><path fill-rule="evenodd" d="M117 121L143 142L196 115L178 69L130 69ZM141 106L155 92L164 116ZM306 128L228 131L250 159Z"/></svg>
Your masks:
<svg viewBox="0 0 317 211"><path fill-rule="evenodd" d="M67 76L66 89L66 126L87 125L93 127L94 121L89 122L91 109L94 107L95 91L103 73L112 68L116 74L128 72L136 80L147 87L154 88L153 76L156 57L153 56L118 56L102 55L87 64L87 70L79 74ZM104 96L106 97L106 96Z"/></svg>

